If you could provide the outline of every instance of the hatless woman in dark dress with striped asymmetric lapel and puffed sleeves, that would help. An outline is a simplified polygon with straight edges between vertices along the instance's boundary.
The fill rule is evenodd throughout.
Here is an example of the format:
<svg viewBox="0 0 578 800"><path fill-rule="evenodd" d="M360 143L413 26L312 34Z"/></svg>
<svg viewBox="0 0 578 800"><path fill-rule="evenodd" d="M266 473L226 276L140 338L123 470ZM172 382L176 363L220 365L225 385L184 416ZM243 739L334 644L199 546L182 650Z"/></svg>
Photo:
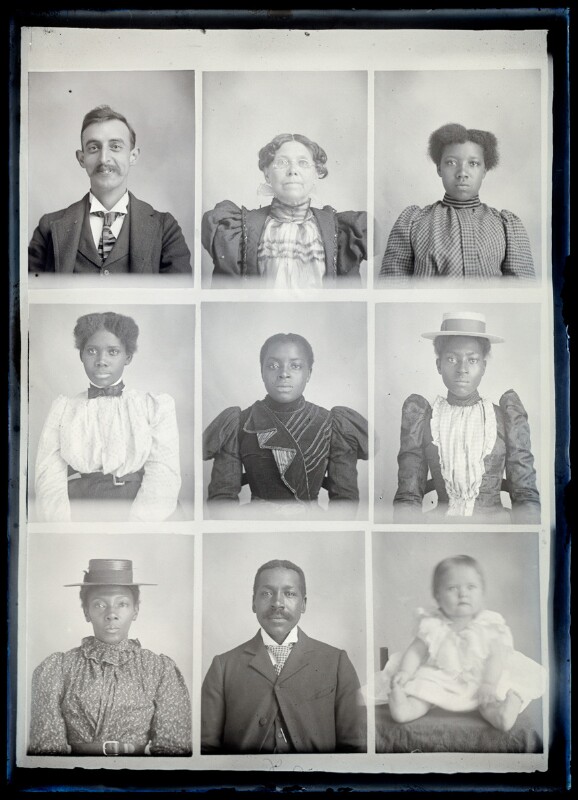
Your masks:
<svg viewBox="0 0 578 800"><path fill-rule="evenodd" d="M251 499L294 510L315 506L322 486L329 503L357 505L357 461L367 459L367 422L351 408L328 411L303 397L313 367L309 342L276 334L261 348L263 400L227 408L204 433L203 458L213 461L208 501Z"/></svg>

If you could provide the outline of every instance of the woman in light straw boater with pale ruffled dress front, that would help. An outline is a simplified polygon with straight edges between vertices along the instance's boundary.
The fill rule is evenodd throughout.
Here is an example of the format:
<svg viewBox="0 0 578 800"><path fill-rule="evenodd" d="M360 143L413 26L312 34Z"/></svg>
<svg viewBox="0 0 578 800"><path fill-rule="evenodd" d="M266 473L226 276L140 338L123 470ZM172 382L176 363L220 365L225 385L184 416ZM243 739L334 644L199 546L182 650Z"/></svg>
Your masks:
<svg viewBox="0 0 578 800"><path fill-rule="evenodd" d="M403 404L394 521L539 523L522 401L513 389L497 406L478 393L491 343L503 339L486 333L482 314L468 311L445 313L439 331L422 335L434 340L437 370L448 392L431 405L417 394ZM504 474L511 513L500 498ZM437 491L437 509L423 515L430 488Z"/></svg>

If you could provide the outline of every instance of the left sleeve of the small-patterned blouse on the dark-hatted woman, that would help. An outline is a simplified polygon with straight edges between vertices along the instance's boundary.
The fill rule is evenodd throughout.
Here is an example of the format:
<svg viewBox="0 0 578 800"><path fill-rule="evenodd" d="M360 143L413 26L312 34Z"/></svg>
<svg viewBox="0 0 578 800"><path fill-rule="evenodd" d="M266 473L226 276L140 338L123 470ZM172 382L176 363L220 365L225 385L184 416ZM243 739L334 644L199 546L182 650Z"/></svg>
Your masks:
<svg viewBox="0 0 578 800"><path fill-rule="evenodd" d="M28 755L68 755L66 723L60 710L64 694L63 653L53 653L34 670Z"/></svg>

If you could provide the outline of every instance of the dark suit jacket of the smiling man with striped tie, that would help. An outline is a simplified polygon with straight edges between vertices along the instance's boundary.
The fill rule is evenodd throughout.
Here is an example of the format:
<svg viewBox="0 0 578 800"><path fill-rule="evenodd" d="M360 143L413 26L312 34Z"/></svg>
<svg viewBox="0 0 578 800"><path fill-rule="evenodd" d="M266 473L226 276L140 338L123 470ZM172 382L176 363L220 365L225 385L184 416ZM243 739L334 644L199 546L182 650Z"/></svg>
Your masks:
<svg viewBox="0 0 578 800"><path fill-rule="evenodd" d="M155 211L130 192L129 197L129 272L191 272L191 254L175 218L168 212ZM72 274L88 213L89 200L85 195L68 208L44 214L28 248L29 272ZM111 260L113 253L109 256ZM91 257L88 253L84 255Z"/></svg>

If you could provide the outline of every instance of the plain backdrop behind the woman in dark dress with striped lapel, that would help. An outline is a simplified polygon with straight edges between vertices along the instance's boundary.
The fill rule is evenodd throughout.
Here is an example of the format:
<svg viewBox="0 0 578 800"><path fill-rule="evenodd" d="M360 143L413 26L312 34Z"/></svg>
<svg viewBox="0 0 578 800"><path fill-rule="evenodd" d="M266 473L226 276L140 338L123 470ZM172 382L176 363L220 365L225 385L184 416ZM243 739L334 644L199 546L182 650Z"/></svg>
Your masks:
<svg viewBox="0 0 578 800"><path fill-rule="evenodd" d="M203 429L225 408L245 409L265 397L259 353L276 333L297 333L313 348L306 400L327 409L349 406L367 417L364 303L203 303L201 330ZM204 464L205 497L212 464ZM361 512L367 504L367 461L358 461L357 469Z"/></svg>

